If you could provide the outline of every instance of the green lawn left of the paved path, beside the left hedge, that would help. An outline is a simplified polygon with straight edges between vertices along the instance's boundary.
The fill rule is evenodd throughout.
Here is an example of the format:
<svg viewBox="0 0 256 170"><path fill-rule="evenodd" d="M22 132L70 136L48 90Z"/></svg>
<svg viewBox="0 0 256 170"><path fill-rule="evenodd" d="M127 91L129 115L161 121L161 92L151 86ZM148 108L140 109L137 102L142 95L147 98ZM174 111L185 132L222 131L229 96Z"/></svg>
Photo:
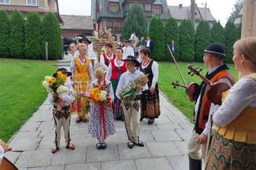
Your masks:
<svg viewBox="0 0 256 170"><path fill-rule="evenodd" d="M7 141L46 99L42 81L54 61L0 59L0 139Z"/></svg>

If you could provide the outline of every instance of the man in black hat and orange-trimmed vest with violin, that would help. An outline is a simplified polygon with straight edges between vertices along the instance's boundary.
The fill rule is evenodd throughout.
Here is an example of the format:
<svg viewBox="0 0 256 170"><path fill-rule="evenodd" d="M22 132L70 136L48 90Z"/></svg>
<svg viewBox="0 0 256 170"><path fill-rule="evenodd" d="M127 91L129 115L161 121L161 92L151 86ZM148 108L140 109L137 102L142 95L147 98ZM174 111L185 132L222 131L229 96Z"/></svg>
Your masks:
<svg viewBox="0 0 256 170"><path fill-rule="evenodd" d="M234 79L228 67L224 64L224 48L221 44L210 44L204 50L203 61L208 68L206 78L212 83L219 81L225 82L232 86ZM202 81L198 88L197 95L190 98L191 101L195 101L194 119L195 128L191 133L191 137L188 141L188 156L189 156L189 169L201 170L202 160L205 161L206 157L206 143L208 132L211 128L210 114L213 114L218 107L211 103L206 93L210 87Z"/></svg>

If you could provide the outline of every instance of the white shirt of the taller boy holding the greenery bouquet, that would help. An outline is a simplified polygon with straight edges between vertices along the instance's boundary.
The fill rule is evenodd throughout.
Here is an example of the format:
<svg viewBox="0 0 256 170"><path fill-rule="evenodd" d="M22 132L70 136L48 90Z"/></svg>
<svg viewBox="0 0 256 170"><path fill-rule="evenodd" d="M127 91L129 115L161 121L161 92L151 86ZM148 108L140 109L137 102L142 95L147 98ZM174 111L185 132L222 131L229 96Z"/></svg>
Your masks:
<svg viewBox="0 0 256 170"><path fill-rule="evenodd" d="M143 72L135 70L133 73L130 71L125 71L123 74L121 74L121 77L119 79L118 85L117 85L117 90L116 90L116 96L118 99L121 99L119 96L119 93L121 92L122 89L125 89L128 85L130 85L135 78L138 78L139 76L143 75ZM148 86L145 85L143 87L143 90L147 90ZM141 92L139 92L141 94Z"/></svg>

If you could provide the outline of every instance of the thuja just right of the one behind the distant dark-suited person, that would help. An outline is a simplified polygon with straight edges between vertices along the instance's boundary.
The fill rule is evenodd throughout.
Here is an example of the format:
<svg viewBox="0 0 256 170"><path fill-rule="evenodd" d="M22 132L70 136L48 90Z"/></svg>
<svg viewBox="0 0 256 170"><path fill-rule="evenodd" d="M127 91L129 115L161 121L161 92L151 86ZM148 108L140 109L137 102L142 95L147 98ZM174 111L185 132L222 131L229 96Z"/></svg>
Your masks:
<svg viewBox="0 0 256 170"><path fill-rule="evenodd" d="M194 29L190 20L183 20L180 24L180 60L195 60Z"/></svg>

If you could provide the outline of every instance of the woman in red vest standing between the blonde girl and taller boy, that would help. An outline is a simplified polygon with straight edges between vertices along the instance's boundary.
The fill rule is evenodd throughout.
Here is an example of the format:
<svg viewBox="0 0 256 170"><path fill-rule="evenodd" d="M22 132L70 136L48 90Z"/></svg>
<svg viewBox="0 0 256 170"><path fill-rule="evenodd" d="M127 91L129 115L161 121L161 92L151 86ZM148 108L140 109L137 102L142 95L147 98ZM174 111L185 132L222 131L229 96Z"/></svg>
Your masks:
<svg viewBox="0 0 256 170"><path fill-rule="evenodd" d="M123 49L116 49L117 58L111 61L108 70L106 72L106 79L112 82L113 92L116 93L118 81L120 80L121 74L126 71L126 66L123 59ZM113 114L117 120L124 121L124 113L121 109L121 100L115 96L113 102Z"/></svg>

